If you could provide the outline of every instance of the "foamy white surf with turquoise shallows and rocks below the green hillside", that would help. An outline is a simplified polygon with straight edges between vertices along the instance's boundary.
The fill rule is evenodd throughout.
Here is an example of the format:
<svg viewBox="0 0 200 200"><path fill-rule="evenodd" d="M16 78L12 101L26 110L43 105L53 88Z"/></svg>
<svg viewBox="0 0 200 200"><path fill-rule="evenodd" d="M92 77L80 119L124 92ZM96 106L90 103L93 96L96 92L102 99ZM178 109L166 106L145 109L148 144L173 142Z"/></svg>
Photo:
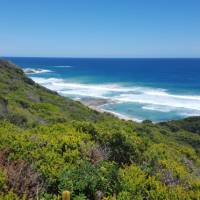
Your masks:
<svg viewBox="0 0 200 200"><path fill-rule="evenodd" d="M41 73L41 69L35 70ZM32 71L28 72L32 73ZM159 87L76 83L63 78L54 78L54 76L29 76L29 78L43 87L56 91L61 96L80 101L93 110L110 113L119 119L135 122L148 119L152 123L159 123L200 116L198 95L174 94ZM117 104L120 103L123 105L118 109Z"/></svg>

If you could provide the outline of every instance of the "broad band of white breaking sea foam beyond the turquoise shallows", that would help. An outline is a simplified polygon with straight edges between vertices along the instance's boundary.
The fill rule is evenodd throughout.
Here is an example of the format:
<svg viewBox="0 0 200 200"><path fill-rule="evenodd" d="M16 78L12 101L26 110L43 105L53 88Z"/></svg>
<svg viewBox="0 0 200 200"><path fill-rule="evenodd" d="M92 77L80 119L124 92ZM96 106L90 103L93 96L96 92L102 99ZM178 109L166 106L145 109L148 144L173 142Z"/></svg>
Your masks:
<svg viewBox="0 0 200 200"><path fill-rule="evenodd" d="M200 96L197 95L176 95L162 88L128 87L120 84L82 84L58 78L32 77L32 79L63 96L106 98L112 103L141 104L144 110L177 111L182 116L200 115Z"/></svg>

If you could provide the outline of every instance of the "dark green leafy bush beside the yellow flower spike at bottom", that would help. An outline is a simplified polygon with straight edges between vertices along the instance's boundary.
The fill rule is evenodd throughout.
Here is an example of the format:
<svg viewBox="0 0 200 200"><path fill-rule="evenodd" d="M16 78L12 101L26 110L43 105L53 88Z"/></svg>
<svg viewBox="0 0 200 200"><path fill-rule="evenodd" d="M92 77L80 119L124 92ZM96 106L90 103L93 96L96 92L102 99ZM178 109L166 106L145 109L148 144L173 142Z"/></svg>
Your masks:
<svg viewBox="0 0 200 200"><path fill-rule="evenodd" d="M73 169L65 169L60 175L59 190L69 190L73 195L85 194L94 199L99 193L112 194L117 190L117 168L115 164L102 162L92 165L81 162Z"/></svg>

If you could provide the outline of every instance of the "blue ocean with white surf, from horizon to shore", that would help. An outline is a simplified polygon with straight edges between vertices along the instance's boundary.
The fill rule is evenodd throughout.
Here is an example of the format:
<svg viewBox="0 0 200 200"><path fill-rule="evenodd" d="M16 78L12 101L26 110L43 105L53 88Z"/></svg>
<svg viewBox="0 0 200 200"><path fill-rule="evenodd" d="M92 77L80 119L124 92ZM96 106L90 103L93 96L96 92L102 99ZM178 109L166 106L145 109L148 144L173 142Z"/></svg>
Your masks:
<svg viewBox="0 0 200 200"><path fill-rule="evenodd" d="M159 122L200 115L200 59L7 59L63 96L106 99L100 108L120 117Z"/></svg>

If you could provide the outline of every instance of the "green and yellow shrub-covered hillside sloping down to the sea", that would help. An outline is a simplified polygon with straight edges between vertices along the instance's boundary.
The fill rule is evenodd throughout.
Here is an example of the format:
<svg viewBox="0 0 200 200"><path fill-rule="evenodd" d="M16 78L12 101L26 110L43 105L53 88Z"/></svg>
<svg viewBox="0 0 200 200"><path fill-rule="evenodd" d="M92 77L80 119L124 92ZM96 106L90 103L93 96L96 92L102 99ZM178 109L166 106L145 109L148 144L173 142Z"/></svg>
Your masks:
<svg viewBox="0 0 200 200"><path fill-rule="evenodd" d="M0 199L200 199L200 117L120 120L0 61Z"/></svg>

